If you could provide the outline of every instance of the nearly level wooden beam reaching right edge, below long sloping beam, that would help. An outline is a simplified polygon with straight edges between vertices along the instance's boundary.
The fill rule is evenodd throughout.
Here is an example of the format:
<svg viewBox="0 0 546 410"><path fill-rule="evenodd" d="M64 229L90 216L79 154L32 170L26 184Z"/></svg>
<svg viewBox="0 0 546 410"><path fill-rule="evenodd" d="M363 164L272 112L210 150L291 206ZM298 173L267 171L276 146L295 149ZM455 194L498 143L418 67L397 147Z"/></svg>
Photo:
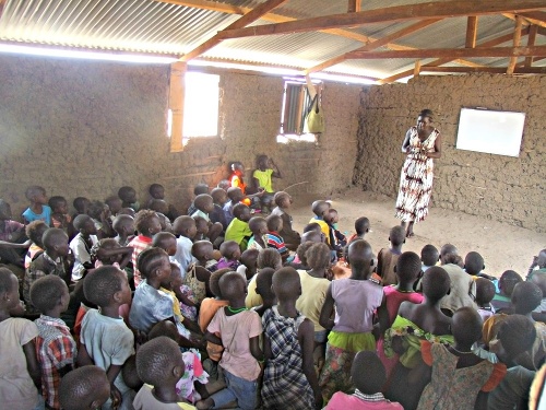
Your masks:
<svg viewBox="0 0 546 410"><path fill-rule="evenodd" d="M347 58L380 60L384 58L483 58L546 56L546 46L532 47L479 47L479 48L427 48L401 51L352 51Z"/></svg>

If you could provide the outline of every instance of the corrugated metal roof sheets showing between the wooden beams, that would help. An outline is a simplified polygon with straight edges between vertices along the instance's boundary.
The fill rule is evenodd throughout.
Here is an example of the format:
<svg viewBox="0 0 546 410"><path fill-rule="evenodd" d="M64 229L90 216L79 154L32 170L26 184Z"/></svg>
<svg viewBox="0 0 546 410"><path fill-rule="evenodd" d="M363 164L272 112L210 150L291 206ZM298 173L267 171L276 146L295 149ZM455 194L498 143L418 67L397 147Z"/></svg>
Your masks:
<svg viewBox="0 0 546 410"><path fill-rule="evenodd" d="M178 3L177 3L178 1ZM363 10L385 5L406 5L429 0L370 0ZM452 0L441 0L452 2ZM265 0L222 0L202 3L209 8L228 5L250 10ZM183 0L7 0L0 16L0 40L120 50L149 54L186 54L218 31L240 17L239 14L180 5ZM287 19L308 19L341 14L346 1L288 0L273 10ZM416 20L417 21L417 20ZM344 28L343 35L309 32L229 39L203 55L206 59L230 60L256 65L286 66L306 69L344 52L357 49L368 37L382 38L416 21L369 24ZM272 19L258 20L253 25L271 24ZM478 17L478 44L513 31L513 21L501 15ZM413 48L455 48L465 43L466 17L444 19L422 31L396 39L399 46ZM355 39L355 35L360 40ZM546 44L537 36L537 45ZM509 45L509 44L508 44ZM378 50L385 49L384 47ZM470 59L475 63L502 67L506 58ZM426 63L430 60L424 60ZM390 77L413 68L415 59L347 60L325 71L363 77ZM546 65L541 60L537 66Z"/></svg>

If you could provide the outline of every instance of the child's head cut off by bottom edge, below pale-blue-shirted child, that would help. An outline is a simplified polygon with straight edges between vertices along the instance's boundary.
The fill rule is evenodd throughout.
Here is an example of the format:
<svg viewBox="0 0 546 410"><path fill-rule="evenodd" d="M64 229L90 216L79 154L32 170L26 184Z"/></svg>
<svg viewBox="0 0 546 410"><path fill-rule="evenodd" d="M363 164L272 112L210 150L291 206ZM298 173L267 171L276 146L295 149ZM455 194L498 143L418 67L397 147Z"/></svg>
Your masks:
<svg viewBox="0 0 546 410"><path fill-rule="evenodd" d="M59 401L64 410L99 409L110 398L106 372L86 365L68 373L59 386Z"/></svg>

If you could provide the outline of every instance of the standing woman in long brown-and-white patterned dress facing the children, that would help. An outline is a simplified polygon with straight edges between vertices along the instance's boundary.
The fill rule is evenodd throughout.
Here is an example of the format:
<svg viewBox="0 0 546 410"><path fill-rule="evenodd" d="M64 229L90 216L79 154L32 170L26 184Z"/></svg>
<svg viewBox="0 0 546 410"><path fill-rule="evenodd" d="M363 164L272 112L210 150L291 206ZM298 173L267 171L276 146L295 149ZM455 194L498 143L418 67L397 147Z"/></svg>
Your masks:
<svg viewBox="0 0 546 410"><path fill-rule="evenodd" d="M396 218L406 229L406 237L414 236L413 224L428 214L428 201L432 191L434 159L441 156L441 136L430 124L432 112L424 109L417 117L417 126L410 128L402 143L407 154L400 174L396 199Z"/></svg>

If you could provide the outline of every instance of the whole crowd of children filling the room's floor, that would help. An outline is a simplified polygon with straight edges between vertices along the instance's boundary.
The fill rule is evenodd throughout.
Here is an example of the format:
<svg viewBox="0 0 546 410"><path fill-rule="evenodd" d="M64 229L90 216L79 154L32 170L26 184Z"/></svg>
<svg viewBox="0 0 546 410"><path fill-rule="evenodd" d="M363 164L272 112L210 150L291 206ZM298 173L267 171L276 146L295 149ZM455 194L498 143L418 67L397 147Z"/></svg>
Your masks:
<svg viewBox="0 0 546 410"><path fill-rule="evenodd" d="M400 226L376 256L324 200L297 232L266 156L250 197L232 169L186 215L159 184L73 215L34 186L24 224L0 200L1 408L546 406L546 249L498 280L451 244L403 251Z"/></svg>

